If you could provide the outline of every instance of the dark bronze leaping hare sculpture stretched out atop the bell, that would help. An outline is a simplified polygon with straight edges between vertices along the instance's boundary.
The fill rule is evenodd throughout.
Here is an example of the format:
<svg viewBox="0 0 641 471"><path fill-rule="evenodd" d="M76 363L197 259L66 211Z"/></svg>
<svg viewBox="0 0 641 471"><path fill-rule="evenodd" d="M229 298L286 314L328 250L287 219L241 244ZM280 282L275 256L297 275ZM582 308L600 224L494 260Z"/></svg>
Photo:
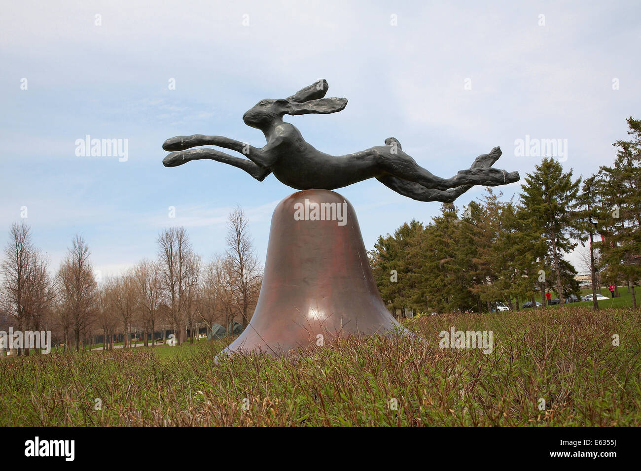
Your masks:
<svg viewBox="0 0 641 471"><path fill-rule="evenodd" d="M264 99L247 111L242 117L245 124L263 131L267 139L260 149L223 136L176 136L162 146L165 151L174 151L163 159L163 164L175 167L190 160L211 159L243 169L258 181L273 173L279 181L297 190L335 190L376 178L395 192L419 201L452 202L473 185L498 186L519 180L518 172L492 167L501 156L499 147L479 155L469 169L452 178L439 178L420 167L393 137L387 138L385 145L354 154L322 153L305 142L293 124L283 121L283 116L340 112L347 99L324 98L328 88L327 81L320 79L286 99ZM215 149L185 151L199 145L225 147L249 160Z"/></svg>

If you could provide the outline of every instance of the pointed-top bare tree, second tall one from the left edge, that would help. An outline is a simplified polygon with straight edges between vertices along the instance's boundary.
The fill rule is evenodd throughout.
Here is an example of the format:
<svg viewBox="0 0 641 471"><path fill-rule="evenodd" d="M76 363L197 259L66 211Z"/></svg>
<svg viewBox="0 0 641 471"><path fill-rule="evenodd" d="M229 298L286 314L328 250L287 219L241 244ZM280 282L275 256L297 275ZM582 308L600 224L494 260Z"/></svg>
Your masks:
<svg viewBox="0 0 641 471"><path fill-rule="evenodd" d="M76 234L65 260L58 270L58 286L64 316L71 317L71 329L80 349L80 333L86 331L96 313L97 283L89 261L91 252L85 240ZM65 350L67 343L65 342Z"/></svg>

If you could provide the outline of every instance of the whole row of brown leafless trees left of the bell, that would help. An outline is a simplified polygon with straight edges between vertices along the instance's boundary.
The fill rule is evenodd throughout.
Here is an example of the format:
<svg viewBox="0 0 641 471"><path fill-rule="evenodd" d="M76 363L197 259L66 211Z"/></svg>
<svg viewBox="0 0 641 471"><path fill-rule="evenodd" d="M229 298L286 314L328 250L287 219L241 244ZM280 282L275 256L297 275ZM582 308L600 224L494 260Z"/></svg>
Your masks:
<svg viewBox="0 0 641 471"><path fill-rule="evenodd" d="M54 338L79 351L102 339L105 348L122 336L140 333L144 345L171 330L178 343L187 332L213 324L247 326L256 306L261 269L242 209L228 219L228 249L203 262L184 227L164 229L155 260L144 259L116 276L101 279L90 261L87 242L74 236L54 273L49 258L31 240L24 222L13 224L0 264L0 314L15 329L51 330ZM149 335L152 338L149 338ZM28 354L28 350L17 354Z"/></svg>

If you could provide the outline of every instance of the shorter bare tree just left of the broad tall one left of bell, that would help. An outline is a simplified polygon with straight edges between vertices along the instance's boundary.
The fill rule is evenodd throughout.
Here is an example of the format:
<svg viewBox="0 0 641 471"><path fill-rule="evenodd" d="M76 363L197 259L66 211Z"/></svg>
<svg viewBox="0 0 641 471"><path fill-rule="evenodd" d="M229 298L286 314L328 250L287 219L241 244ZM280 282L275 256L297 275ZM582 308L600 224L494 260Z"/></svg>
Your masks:
<svg viewBox="0 0 641 471"><path fill-rule="evenodd" d="M160 317L160 277L157 262L142 260L134 274L138 300L140 302L140 319L145 329L145 345L148 345L147 332L151 332L151 346L154 346L154 329Z"/></svg>

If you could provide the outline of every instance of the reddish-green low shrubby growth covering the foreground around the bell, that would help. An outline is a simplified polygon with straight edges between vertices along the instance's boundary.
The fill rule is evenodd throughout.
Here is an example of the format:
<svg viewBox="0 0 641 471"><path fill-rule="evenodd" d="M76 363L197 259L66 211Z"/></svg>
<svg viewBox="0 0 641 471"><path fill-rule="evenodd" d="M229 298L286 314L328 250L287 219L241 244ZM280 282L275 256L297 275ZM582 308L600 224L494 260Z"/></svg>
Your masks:
<svg viewBox="0 0 641 471"><path fill-rule="evenodd" d="M415 338L218 364L231 339L3 359L0 425L641 426L640 320L588 306L443 314L409 320ZM440 349L451 326L492 331L494 351Z"/></svg>

